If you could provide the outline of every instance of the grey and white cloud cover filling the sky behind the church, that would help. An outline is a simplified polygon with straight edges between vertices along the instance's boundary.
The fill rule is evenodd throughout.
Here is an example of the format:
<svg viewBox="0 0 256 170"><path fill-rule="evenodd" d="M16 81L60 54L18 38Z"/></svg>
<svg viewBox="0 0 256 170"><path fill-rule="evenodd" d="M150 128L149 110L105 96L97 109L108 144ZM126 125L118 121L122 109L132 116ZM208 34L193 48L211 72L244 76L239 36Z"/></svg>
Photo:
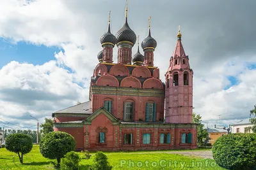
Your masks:
<svg viewBox="0 0 256 170"><path fill-rule="evenodd" d="M131 1L128 21L142 40L152 16L152 36L157 40L154 60L162 80L181 25L182 43L194 71L194 111L212 124L229 124L248 117L256 101L255 70L248 69L248 64L256 63L253 6L255 1ZM12 43L58 46L61 51L52 54L56 60L40 66L10 61L0 70L0 118L30 125L29 114L43 122L52 111L86 101L108 11L115 34L124 24L124 8L122 1L1 2L1 37ZM116 51L115 47L114 62ZM236 85L231 85L229 76L237 78Z"/></svg>

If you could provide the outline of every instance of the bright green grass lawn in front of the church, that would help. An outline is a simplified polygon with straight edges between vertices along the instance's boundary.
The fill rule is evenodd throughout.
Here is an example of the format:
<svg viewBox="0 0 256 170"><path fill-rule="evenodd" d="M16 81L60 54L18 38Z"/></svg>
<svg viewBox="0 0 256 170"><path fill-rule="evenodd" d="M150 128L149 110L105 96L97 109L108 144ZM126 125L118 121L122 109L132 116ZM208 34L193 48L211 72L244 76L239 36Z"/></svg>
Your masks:
<svg viewBox="0 0 256 170"><path fill-rule="evenodd" d="M83 155L79 153L81 157ZM93 164L95 153L91 153L90 160L82 159L79 169L87 169ZM177 154L157 152L106 152L113 169L223 169L212 159L200 159ZM51 162L56 160L45 159L39 147L34 145L27 155L24 155L24 164L20 164L19 157L5 148L0 148L0 169L54 169Z"/></svg>

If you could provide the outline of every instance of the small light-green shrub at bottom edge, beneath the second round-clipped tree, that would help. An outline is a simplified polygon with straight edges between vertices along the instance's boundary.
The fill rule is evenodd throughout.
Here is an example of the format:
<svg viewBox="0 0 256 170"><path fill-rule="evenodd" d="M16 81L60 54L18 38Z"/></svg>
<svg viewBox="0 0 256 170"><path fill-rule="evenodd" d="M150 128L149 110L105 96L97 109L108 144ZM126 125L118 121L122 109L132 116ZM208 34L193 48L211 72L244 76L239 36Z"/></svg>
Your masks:
<svg viewBox="0 0 256 170"><path fill-rule="evenodd" d="M78 170L79 169L79 158L78 153L72 151L68 152L63 159L61 159L60 169L61 170Z"/></svg>

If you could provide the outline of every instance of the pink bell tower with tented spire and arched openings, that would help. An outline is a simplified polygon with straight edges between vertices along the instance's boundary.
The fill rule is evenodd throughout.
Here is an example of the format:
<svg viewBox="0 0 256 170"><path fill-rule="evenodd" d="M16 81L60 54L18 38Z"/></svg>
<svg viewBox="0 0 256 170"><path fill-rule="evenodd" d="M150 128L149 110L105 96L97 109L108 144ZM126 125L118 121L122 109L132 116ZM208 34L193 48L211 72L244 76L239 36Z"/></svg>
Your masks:
<svg viewBox="0 0 256 170"><path fill-rule="evenodd" d="M165 74L165 122L191 124L193 113L193 70L181 43L180 27L177 45Z"/></svg>

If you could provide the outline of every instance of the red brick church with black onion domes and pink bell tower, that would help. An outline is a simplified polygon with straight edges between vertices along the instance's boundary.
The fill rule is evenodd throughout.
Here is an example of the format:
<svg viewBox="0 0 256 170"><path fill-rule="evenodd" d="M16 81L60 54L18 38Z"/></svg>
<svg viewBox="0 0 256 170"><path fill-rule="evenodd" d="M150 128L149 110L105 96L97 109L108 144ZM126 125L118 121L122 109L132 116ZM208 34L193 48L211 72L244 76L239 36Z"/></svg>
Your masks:
<svg viewBox="0 0 256 170"><path fill-rule="evenodd" d="M132 57L136 34L125 22L115 36L101 38L99 64L93 70L89 101L52 113L54 131L68 132L77 150L168 150L196 148L196 124L192 124L193 71L181 43L164 75L154 66L157 42L148 36L141 42L143 54ZM113 63L113 48L118 62ZM164 62L164 61L163 61Z"/></svg>

